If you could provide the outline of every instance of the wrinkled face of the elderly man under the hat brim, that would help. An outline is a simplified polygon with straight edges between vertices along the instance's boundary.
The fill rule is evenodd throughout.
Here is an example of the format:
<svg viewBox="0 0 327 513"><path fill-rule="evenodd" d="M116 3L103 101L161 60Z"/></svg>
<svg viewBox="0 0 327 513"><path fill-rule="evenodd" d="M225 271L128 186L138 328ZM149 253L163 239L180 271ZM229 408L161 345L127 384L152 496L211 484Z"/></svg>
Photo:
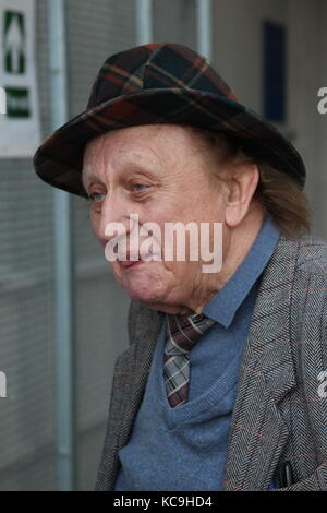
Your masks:
<svg viewBox="0 0 327 513"><path fill-rule="evenodd" d="M132 127L92 140L84 153L83 183L90 198L92 226L102 247L112 238L106 227L113 222L125 227L131 240L135 229L131 214L137 215L137 229L148 222L161 228L161 246L166 223L223 222L227 188L216 178L215 166L198 135L185 127ZM216 274L203 273L204 262L187 255L186 251L185 261L165 261L162 251L159 261L126 265L117 260L110 265L132 299L185 313L198 310L217 290Z"/></svg>

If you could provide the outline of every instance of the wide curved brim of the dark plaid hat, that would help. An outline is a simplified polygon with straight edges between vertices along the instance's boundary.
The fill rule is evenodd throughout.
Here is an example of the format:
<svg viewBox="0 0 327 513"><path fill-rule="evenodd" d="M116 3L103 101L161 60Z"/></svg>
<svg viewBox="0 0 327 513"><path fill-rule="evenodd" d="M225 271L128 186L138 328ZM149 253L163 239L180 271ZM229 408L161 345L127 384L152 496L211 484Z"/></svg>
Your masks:
<svg viewBox="0 0 327 513"><path fill-rule="evenodd" d="M270 122L223 96L185 88L143 90L85 110L45 140L34 156L35 170L47 183L87 198L82 183L87 142L110 130L157 123L223 132L261 162L289 175L300 189L304 187L301 156Z"/></svg>

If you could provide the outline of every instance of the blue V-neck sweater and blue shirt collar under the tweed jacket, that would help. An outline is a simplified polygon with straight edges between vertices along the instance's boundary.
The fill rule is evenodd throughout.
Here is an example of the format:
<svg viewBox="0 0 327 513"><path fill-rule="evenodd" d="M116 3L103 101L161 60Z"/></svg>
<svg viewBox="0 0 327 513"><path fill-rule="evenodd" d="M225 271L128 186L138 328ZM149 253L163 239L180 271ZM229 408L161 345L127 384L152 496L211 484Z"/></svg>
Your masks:
<svg viewBox="0 0 327 513"><path fill-rule="evenodd" d="M162 327L116 490L220 490L240 363L259 277L279 239L266 217L247 255L205 306L217 321L190 354L189 402L171 408L164 381Z"/></svg>

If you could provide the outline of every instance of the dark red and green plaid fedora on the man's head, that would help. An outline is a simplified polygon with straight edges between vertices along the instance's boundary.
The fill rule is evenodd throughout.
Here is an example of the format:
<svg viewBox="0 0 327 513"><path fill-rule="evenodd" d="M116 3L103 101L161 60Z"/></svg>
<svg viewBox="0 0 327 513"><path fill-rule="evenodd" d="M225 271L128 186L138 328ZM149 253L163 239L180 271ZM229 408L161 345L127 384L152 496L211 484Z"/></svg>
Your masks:
<svg viewBox="0 0 327 513"><path fill-rule="evenodd" d="M85 145L109 130L154 123L223 132L242 148L294 179L305 167L294 146L267 120L238 102L209 62L171 43L143 45L106 60L81 115L56 130L34 156L47 183L87 198L82 184Z"/></svg>

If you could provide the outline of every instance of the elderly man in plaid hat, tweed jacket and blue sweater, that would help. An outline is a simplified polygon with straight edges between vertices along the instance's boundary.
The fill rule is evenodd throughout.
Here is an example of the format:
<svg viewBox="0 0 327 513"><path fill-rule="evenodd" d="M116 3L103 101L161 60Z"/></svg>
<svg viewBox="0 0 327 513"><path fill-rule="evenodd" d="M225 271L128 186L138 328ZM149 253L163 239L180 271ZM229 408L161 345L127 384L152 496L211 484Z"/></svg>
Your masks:
<svg viewBox="0 0 327 513"><path fill-rule="evenodd" d="M310 235L294 147L203 57L154 44L105 62L35 167L88 198L104 249L118 224L130 243L110 262L132 299L130 347L96 489L326 490L327 247ZM205 240L220 269L191 249L134 259L149 222L220 224L218 248Z"/></svg>

